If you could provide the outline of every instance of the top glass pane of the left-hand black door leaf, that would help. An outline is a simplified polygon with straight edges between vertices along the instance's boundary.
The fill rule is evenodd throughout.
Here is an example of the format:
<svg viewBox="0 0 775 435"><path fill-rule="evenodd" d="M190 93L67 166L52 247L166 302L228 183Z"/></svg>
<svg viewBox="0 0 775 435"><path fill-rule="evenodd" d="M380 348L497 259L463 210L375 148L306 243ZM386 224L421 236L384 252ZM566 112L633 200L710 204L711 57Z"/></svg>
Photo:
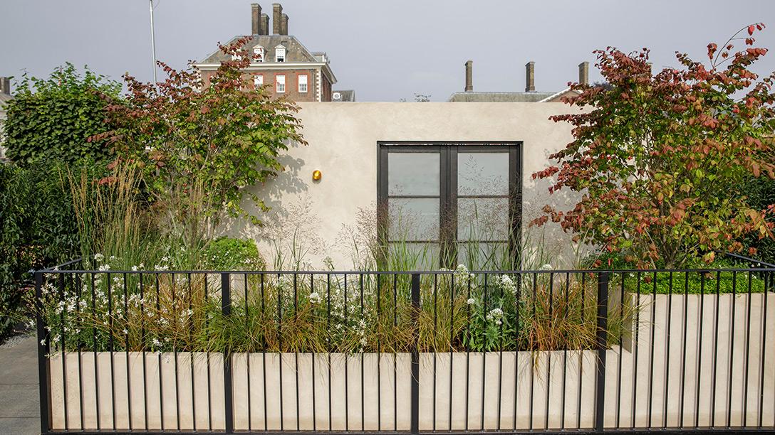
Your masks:
<svg viewBox="0 0 775 435"><path fill-rule="evenodd" d="M387 194L438 195L438 152L388 152Z"/></svg>

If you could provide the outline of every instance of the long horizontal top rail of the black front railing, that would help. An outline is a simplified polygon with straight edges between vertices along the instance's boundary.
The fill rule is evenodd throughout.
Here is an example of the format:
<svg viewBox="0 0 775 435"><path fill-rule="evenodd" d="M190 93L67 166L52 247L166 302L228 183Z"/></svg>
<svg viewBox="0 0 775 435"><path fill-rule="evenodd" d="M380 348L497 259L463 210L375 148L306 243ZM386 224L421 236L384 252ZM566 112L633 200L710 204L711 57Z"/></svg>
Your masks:
<svg viewBox="0 0 775 435"><path fill-rule="evenodd" d="M111 273L111 274L220 274L220 273L232 273L236 275L454 275L454 270L124 270L124 269L60 269L58 266L54 266L50 269L40 269L35 272L45 273ZM739 268L696 268L696 269L538 269L538 270L470 270L467 273L480 274L501 274L501 275L530 275L530 274L546 274L546 273L683 273L683 272L695 272L695 273L708 273L708 272L775 272L775 265L773 267L739 267Z"/></svg>

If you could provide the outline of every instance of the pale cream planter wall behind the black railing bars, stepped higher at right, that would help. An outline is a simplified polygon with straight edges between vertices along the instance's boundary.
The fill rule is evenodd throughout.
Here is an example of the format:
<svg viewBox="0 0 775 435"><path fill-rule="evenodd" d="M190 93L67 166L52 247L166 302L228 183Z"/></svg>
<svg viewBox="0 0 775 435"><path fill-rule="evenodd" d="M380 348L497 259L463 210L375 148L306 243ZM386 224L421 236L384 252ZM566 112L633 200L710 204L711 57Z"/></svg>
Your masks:
<svg viewBox="0 0 775 435"><path fill-rule="evenodd" d="M733 299L735 300L735 324L731 323ZM671 318L668 324L669 303ZM750 317L748 318L749 303ZM618 347L606 351L605 426L616 426L617 419L618 423L625 427L648 426L649 416L652 426L663 426L663 423L667 423L667 426L680 426L682 404L684 425L694 426L696 421L698 426L710 426L711 401L714 400L711 394L714 363L716 365L715 426L727 425L728 409L731 409L731 426L741 426L742 423L758 424L760 394L763 394L763 422L765 426L772 424L775 417L773 415L775 320L768 321L766 331L763 331L763 294L754 294L750 300L746 295L722 295L718 299L718 331L715 331L717 307L715 295L706 295L704 298L698 295L673 295L672 298L659 295L656 296L656 302L653 296L641 296L640 305L639 324L636 331L633 331L633 334L637 334L637 345L632 348L632 351L625 349L620 352ZM703 313L700 318L701 307ZM687 325L685 329L684 312ZM655 313L654 317L652 313ZM767 300L767 317L772 317L773 314L775 314L775 297L770 295ZM653 337L651 336L652 326ZM666 345L668 326L670 328L669 346ZM717 348L714 345L716 334L718 335ZM746 340L746 337L749 339ZM649 364L652 358L652 341L655 343L653 366ZM734 341L732 346L730 341ZM746 347L748 348L747 384ZM714 350L716 358L714 358ZM766 360L763 385L760 385L763 351L766 352ZM450 413L452 429L463 430L466 422L470 429L480 429L483 425L483 382L484 429L486 430L497 429L499 426L501 429L512 428L515 420L517 429L529 428L531 397L533 428L540 429L546 426L547 402L549 403L548 426L551 428L562 426L563 397L564 426L577 427L579 384L581 385L580 427L591 427L594 425L597 355L596 351L551 351L535 354L487 352L486 355L454 353L451 356L449 353L420 354L420 429L432 430L435 421L437 430L448 430ZM733 362L730 371L731 355ZM161 363L159 363L160 357ZM98 385L99 390L102 428L114 427L111 385L115 386L116 428L129 427L128 397L131 397L132 402L131 421L134 429L146 428L145 409L148 410L147 427L149 429L160 429L160 409L164 409L166 429L191 430L194 427L194 421L198 430L207 429L211 425L214 430L224 427L222 355L209 355L208 377L207 355L195 353L192 357L189 353L177 354L176 389L173 354L146 353L143 377L143 354L129 352L129 385L131 385L129 391L126 380L126 353L113 355L112 376L110 356L107 353L98 353L96 382L95 354L84 352L80 358L80 384L83 385L84 392L83 409L86 428L96 427L95 385ZM191 358L194 358L193 371ZM411 355L409 354L395 356L392 354L381 356L332 354L330 366L328 354L316 354L314 357L311 354L292 353L236 354L232 355L232 358L236 430L249 428L249 409L250 427L253 430L263 430L265 427L269 430L280 430L281 424L284 429L290 430L296 430L297 425L301 430L329 430L329 424L332 430L409 429L411 416ZM394 358L397 378L394 378ZM636 358L638 366L636 376L633 376ZM71 429L80 428L78 355L67 353L65 359L67 423ZM450 364L452 366L451 388ZM248 375L249 365L250 375ZM436 376L434 376L434 368ZM563 368L565 368L564 371ZM649 415L648 392L652 372L653 398ZM163 407L160 406L159 401L160 374L163 385L161 389ZM700 377L699 394L698 375ZM60 429L64 427L65 415L62 355L53 355L50 358L50 378L53 428ZM146 397L143 397L143 378L146 384ZM362 379L363 389L361 389ZM730 381L732 402L731 407L728 407ZM282 401L280 384L282 384ZM394 389L394 385L398 388ZM436 413L434 413L434 389ZM632 420L633 391L636 392L634 422ZM743 413L742 407L744 393L748 397L746 413ZM180 404L179 426L176 397L179 398ZM619 401L617 401L618 397L621 397ZM666 397L669 401L667 416L663 414ZM208 406L212 410L210 413L208 413ZM697 409L699 409L698 415L696 415ZM208 420L208 416L211 420Z"/></svg>

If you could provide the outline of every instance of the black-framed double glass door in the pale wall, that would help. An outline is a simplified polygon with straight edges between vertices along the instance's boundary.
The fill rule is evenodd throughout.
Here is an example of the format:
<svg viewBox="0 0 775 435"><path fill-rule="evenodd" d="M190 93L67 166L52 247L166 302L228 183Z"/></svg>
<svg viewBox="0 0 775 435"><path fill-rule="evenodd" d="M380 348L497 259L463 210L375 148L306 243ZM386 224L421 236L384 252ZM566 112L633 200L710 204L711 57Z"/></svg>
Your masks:
<svg viewBox="0 0 775 435"><path fill-rule="evenodd" d="M387 269L516 265L521 142L379 142L377 219Z"/></svg>

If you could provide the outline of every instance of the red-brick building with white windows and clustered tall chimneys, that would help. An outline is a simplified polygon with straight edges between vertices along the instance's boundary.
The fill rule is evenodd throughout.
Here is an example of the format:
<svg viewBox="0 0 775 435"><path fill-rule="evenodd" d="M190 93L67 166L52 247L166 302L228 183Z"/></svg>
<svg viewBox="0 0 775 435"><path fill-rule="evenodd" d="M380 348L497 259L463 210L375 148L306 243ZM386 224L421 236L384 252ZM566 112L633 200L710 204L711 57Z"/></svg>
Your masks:
<svg viewBox="0 0 775 435"><path fill-rule="evenodd" d="M261 13L261 6L251 5L250 41L245 50L259 60L250 63L245 74L250 86L265 86L273 97L285 96L293 101L332 101L332 85L336 77L331 71L329 57L322 52L311 52L295 36L288 35L288 15L279 3L272 5L272 34L269 34L269 15ZM234 36L229 43L245 36ZM194 64L202 71L205 83L215 74L221 62L229 60L220 50Z"/></svg>

